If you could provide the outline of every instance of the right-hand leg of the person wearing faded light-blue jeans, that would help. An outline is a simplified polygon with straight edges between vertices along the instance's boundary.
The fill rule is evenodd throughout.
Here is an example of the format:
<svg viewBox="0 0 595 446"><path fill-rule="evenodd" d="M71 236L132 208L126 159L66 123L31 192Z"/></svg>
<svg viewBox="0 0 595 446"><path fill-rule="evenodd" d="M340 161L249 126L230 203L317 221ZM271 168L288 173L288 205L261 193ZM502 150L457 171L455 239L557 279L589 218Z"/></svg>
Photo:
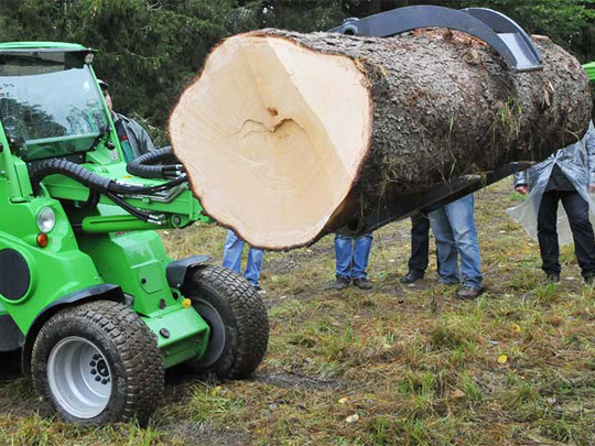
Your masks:
<svg viewBox="0 0 595 446"><path fill-rule="evenodd" d="M456 249L461 257L463 287L482 290L484 278L480 270L473 194L444 206L444 211L451 224Z"/></svg>

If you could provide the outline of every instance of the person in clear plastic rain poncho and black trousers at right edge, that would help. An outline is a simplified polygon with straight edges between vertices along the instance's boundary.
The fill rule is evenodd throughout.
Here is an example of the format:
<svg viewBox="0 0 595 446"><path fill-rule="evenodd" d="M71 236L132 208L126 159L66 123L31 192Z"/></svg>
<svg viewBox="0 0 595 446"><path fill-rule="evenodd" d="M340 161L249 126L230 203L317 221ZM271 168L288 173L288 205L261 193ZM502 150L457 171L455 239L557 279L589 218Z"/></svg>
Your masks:
<svg viewBox="0 0 595 446"><path fill-rule="evenodd" d="M515 189L528 198L509 214L533 215L537 210L537 237L541 253L541 269L547 283L560 282L560 246L558 207L566 211L572 231L576 260L585 283L595 282L595 237L591 216L595 216L595 204L588 193L595 192L595 129L589 123L582 141L570 144L553 153L542 163L515 174ZM591 207L591 210L589 210ZM528 213L532 210L532 213ZM528 218L524 218L526 220Z"/></svg>

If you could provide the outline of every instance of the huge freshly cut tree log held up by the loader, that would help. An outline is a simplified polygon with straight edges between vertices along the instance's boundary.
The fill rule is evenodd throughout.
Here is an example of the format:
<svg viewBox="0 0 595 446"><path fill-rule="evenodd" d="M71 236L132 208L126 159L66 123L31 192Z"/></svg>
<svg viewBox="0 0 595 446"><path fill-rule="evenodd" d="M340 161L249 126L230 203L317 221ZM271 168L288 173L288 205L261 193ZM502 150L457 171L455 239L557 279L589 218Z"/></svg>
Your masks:
<svg viewBox="0 0 595 446"><path fill-rule="evenodd" d="M543 70L513 74L450 31L232 36L173 111L174 152L221 225L253 246L304 246L411 191L576 141L587 77L547 37L537 43Z"/></svg>

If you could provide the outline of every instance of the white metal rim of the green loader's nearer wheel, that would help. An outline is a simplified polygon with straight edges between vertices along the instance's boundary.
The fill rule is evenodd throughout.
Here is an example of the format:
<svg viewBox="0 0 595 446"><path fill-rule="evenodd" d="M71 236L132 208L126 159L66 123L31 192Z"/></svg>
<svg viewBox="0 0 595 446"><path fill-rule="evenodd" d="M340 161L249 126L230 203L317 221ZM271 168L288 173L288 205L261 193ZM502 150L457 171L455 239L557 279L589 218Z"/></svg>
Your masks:
<svg viewBox="0 0 595 446"><path fill-rule="evenodd" d="M107 407L111 396L111 370L91 341L69 336L50 352L47 381L57 405L77 418L93 418Z"/></svg>

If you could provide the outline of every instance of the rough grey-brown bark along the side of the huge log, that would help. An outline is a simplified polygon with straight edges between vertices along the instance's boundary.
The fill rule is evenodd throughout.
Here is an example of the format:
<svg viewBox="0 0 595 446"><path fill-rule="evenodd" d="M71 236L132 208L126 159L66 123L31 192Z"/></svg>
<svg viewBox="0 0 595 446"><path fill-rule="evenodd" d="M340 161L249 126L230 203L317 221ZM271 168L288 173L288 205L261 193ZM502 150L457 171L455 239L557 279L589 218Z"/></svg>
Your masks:
<svg viewBox="0 0 595 446"><path fill-rule="evenodd" d="M512 161L544 160L581 138L591 119L586 74L547 37L537 39L543 70L515 74L482 42L450 31L390 39L279 30L249 35L279 36L350 57L368 79L374 127L367 157L324 229L299 244L411 191ZM250 233L240 236L251 241ZM279 240L263 248L290 247Z"/></svg>

